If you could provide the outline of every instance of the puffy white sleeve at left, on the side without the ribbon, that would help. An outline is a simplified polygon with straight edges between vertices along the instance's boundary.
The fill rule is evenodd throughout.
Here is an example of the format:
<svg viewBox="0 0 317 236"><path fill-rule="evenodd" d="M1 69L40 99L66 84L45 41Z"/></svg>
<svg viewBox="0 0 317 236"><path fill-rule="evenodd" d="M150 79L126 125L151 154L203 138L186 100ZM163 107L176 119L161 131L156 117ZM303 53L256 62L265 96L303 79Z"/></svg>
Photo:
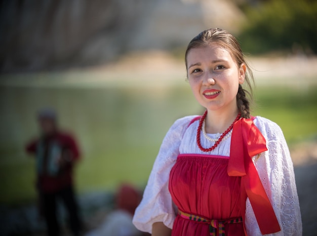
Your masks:
<svg viewBox="0 0 317 236"><path fill-rule="evenodd" d="M141 231L152 231L152 224L163 222L172 228L176 217L169 192L169 177L179 154L179 145L189 122L194 116L177 120L166 134L156 157L144 190L143 199L137 207L133 224Z"/></svg>

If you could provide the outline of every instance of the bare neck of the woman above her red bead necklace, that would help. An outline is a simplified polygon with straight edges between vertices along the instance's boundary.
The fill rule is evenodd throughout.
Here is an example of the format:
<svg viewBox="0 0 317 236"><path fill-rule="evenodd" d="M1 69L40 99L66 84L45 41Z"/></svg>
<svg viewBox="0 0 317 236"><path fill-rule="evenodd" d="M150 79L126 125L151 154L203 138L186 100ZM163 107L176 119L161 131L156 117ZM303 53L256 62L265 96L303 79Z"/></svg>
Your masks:
<svg viewBox="0 0 317 236"><path fill-rule="evenodd" d="M235 120L239 110L208 110L206 116L206 132L209 134L223 133L226 131L232 122Z"/></svg>

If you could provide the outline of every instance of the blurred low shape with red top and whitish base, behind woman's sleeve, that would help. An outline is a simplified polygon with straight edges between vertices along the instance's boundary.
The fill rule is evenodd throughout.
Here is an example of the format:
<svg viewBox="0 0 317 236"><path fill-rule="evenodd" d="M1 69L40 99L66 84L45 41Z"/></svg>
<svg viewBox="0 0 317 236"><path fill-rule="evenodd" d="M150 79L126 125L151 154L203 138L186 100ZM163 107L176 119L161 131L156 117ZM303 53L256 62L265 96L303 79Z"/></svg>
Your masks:
<svg viewBox="0 0 317 236"><path fill-rule="evenodd" d="M107 215L102 224L86 236L142 236L132 223L136 207L141 201L141 194L128 184L122 185L115 196L117 209ZM149 235L149 234L146 234Z"/></svg>

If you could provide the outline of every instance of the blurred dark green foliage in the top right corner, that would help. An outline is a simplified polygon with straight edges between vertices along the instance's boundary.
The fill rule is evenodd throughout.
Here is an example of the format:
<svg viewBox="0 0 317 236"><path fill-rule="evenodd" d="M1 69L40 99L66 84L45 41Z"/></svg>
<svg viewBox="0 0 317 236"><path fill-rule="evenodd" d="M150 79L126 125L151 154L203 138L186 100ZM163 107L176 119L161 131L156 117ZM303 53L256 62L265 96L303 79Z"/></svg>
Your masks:
<svg viewBox="0 0 317 236"><path fill-rule="evenodd" d="M238 35L244 52L317 54L317 1L268 0L241 8L248 18Z"/></svg>

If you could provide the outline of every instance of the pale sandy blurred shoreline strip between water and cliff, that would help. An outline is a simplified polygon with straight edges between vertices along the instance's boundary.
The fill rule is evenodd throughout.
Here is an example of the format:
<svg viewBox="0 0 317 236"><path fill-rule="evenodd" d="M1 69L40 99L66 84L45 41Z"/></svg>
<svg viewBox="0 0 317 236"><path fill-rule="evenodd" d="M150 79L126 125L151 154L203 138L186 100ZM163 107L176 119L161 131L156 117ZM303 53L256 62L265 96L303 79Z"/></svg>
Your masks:
<svg viewBox="0 0 317 236"><path fill-rule="evenodd" d="M247 57L247 61L257 86L305 89L317 85L317 56ZM185 81L184 62L164 51L132 53L116 62L83 69L0 74L0 86L8 87L187 86Z"/></svg>

